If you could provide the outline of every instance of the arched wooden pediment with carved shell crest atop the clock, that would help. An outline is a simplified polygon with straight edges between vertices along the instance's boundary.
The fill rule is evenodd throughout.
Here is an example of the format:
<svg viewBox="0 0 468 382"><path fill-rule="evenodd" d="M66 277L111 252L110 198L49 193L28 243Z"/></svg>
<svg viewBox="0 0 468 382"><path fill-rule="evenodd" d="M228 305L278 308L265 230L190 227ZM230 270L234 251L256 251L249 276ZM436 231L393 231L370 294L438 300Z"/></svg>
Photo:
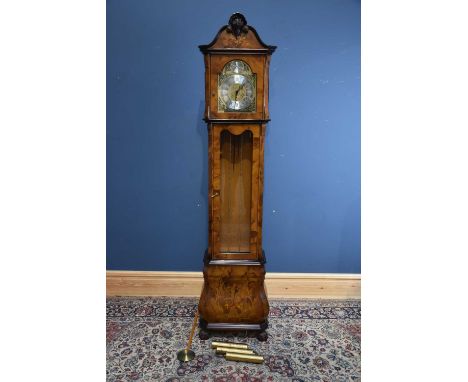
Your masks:
<svg viewBox="0 0 468 382"><path fill-rule="evenodd" d="M223 26L208 45L199 46L202 53L264 53L272 54L276 46L265 44L257 31L241 13L234 13L227 25Z"/></svg>

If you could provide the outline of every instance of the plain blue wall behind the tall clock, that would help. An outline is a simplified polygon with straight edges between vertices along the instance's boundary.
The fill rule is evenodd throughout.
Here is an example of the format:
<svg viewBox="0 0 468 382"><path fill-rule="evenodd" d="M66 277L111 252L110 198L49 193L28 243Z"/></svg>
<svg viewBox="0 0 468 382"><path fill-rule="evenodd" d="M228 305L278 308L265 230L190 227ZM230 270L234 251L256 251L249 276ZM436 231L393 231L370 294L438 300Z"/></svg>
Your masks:
<svg viewBox="0 0 468 382"><path fill-rule="evenodd" d="M265 148L267 271L359 273L360 3L352 0L107 2L107 268L202 269L198 45L235 11L278 46Z"/></svg>

